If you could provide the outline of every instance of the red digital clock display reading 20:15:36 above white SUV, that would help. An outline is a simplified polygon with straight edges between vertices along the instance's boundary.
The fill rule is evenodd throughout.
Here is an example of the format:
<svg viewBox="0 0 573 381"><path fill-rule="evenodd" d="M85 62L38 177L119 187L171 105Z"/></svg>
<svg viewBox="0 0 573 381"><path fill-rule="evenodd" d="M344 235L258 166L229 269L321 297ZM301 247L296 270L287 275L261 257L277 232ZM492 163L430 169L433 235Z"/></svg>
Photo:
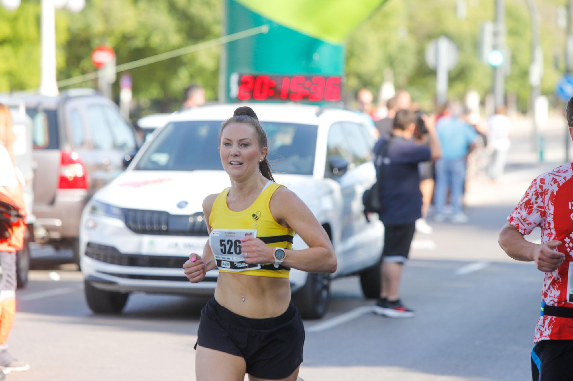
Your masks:
<svg viewBox="0 0 573 381"><path fill-rule="evenodd" d="M246 100L340 101L340 77L242 74L237 98Z"/></svg>

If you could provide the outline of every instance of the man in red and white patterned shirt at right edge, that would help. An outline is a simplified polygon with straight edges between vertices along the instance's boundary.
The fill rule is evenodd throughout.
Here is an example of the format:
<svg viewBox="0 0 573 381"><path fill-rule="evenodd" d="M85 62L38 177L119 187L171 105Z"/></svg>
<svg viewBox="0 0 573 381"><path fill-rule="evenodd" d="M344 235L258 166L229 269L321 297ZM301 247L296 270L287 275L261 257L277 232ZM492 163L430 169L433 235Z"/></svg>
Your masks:
<svg viewBox="0 0 573 381"><path fill-rule="evenodd" d="M567 104L573 138L573 98ZM541 228L541 244L524 239ZM499 244L520 261L545 272L541 316L531 351L533 380L573 379L573 163L541 174L501 229Z"/></svg>

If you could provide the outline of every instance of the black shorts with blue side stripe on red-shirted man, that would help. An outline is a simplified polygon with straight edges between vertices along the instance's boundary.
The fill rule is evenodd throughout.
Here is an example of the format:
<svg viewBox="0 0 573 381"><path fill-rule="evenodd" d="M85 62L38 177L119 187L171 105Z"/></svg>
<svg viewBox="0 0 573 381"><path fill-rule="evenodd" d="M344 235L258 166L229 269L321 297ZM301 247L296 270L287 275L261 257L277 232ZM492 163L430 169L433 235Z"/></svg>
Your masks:
<svg viewBox="0 0 573 381"><path fill-rule="evenodd" d="M531 351L533 381L573 378L573 340L541 340Z"/></svg>

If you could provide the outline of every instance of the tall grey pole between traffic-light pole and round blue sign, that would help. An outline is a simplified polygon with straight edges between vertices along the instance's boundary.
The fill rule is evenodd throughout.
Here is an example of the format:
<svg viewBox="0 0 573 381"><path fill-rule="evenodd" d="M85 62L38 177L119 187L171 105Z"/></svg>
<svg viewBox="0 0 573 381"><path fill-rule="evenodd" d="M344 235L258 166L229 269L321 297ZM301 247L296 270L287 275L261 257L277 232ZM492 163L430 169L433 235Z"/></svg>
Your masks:
<svg viewBox="0 0 573 381"><path fill-rule="evenodd" d="M532 150L539 148L539 126L537 126L536 102L540 95L541 74L543 70L543 51L539 47L539 16L535 0L527 0L531 17L531 64L529 65L529 84L531 85L531 117L533 122Z"/></svg>

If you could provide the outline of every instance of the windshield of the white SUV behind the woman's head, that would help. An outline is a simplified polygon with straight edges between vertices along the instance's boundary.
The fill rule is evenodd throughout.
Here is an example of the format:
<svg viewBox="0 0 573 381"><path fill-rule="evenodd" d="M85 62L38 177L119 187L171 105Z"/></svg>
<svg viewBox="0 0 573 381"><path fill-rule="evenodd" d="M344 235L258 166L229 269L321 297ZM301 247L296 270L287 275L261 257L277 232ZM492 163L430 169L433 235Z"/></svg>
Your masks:
<svg viewBox="0 0 573 381"><path fill-rule="evenodd" d="M223 170L219 156L222 121L170 122L143 153L135 169ZM316 125L263 122L268 159L275 173L312 174Z"/></svg>

